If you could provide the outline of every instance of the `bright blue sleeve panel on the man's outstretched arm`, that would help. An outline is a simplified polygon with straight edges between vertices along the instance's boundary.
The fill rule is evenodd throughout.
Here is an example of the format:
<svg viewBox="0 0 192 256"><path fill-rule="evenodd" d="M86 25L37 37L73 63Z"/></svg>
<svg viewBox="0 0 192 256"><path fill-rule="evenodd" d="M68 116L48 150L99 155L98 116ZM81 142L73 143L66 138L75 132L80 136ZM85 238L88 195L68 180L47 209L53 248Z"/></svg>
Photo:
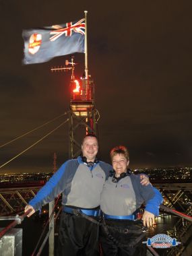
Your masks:
<svg viewBox="0 0 192 256"><path fill-rule="evenodd" d="M68 162L68 161L67 161ZM53 174L53 177L47 181L47 183L38 191L36 196L29 201L29 204L34 207L34 210L40 210L42 205L45 205L46 203L50 203L59 195L64 189L65 189L65 182L62 183L61 186L61 180L64 180L64 174L67 162L65 162L55 174Z"/></svg>

